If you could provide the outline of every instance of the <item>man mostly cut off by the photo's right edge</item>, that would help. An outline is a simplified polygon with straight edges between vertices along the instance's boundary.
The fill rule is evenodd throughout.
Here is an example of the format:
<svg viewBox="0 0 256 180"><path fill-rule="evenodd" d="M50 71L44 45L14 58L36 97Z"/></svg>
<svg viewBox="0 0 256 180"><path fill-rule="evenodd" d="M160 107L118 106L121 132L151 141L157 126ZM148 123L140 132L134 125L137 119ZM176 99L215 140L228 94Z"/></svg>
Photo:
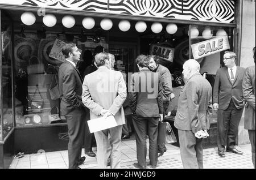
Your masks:
<svg viewBox="0 0 256 180"><path fill-rule="evenodd" d="M253 48L255 64L255 47ZM245 129L248 130L251 142L251 159L255 169L255 65L247 67L243 76L243 98L247 101L245 105Z"/></svg>

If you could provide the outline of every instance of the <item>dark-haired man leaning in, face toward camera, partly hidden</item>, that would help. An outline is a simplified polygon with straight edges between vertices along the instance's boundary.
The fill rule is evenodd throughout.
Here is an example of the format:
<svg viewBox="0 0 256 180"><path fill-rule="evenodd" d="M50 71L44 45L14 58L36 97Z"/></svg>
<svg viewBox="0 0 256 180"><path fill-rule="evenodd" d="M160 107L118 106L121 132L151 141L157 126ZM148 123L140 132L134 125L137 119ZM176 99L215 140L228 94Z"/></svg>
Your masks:
<svg viewBox="0 0 256 180"><path fill-rule="evenodd" d="M167 115L167 109L171 101L172 93L172 78L171 73L167 67L159 64L159 58L156 55L148 55L149 65L151 71L158 72L163 85L163 116ZM166 152L166 146L164 144L158 144L158 157L162 156Z"/></svg>

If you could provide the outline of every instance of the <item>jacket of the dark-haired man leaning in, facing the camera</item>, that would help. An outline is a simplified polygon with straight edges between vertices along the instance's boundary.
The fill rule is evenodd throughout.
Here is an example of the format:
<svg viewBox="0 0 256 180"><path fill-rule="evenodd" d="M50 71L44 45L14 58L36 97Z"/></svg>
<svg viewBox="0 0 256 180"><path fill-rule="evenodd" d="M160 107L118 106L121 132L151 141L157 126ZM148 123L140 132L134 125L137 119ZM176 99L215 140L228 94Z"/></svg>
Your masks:
<svg viewBox="0 0 256 180"><path fill-rule="evenodd" d="M172 78L170 71L167 67L159 64L155 72L160 74L160 79L163 86L163 101L170 101L172 93Z"/></svg>

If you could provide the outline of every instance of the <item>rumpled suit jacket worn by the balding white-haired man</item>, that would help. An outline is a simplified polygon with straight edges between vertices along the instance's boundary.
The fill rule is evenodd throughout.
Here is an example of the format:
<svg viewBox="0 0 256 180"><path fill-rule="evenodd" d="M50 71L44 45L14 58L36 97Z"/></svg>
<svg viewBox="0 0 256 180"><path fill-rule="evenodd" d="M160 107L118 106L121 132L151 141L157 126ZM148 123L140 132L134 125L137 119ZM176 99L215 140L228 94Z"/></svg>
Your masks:
<svg viewBox="0 0 256 180"><path fill-rule="evenodd" d="M174 126L180 130L208 130L212 113L212 87L199 72L181 89Z"/></svg>

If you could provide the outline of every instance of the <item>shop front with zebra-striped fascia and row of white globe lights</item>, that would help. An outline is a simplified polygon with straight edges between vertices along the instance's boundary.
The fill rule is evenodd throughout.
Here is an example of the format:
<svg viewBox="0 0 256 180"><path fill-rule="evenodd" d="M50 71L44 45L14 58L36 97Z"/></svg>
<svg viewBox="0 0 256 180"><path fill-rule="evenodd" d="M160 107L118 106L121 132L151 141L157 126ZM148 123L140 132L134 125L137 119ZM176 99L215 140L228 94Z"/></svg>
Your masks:
<svg viewBox="0 0 256 180"><path fill-rule="evenodd" d="M0 168L20 151L67 149L67 122L52 91L63 44L81 50L81 73L99 48L114 54L116 70L126 74L137 71L137 55L158 55L172 74L173 117L185 60L195 58L213 86L225 50L238 53L237 7L229 0L0 0ZM216 115L212 119L214 128Z"/></svg>

